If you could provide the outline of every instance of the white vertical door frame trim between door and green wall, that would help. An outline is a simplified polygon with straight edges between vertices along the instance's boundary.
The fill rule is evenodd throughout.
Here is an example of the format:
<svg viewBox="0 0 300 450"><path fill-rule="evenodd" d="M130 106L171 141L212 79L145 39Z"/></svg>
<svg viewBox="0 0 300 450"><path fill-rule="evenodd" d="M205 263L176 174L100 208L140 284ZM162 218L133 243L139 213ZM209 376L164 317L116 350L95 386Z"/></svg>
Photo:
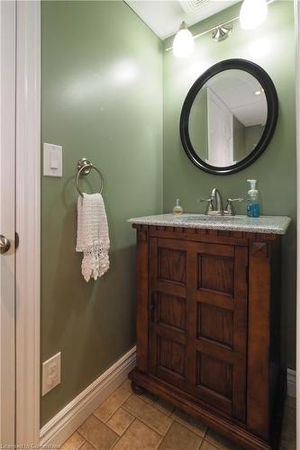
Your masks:
<svg viewBox="0 0 300 450"><path fill-rule="evenodd" d="M41 3L16 2L15 444L40 442Z"/></svg>

